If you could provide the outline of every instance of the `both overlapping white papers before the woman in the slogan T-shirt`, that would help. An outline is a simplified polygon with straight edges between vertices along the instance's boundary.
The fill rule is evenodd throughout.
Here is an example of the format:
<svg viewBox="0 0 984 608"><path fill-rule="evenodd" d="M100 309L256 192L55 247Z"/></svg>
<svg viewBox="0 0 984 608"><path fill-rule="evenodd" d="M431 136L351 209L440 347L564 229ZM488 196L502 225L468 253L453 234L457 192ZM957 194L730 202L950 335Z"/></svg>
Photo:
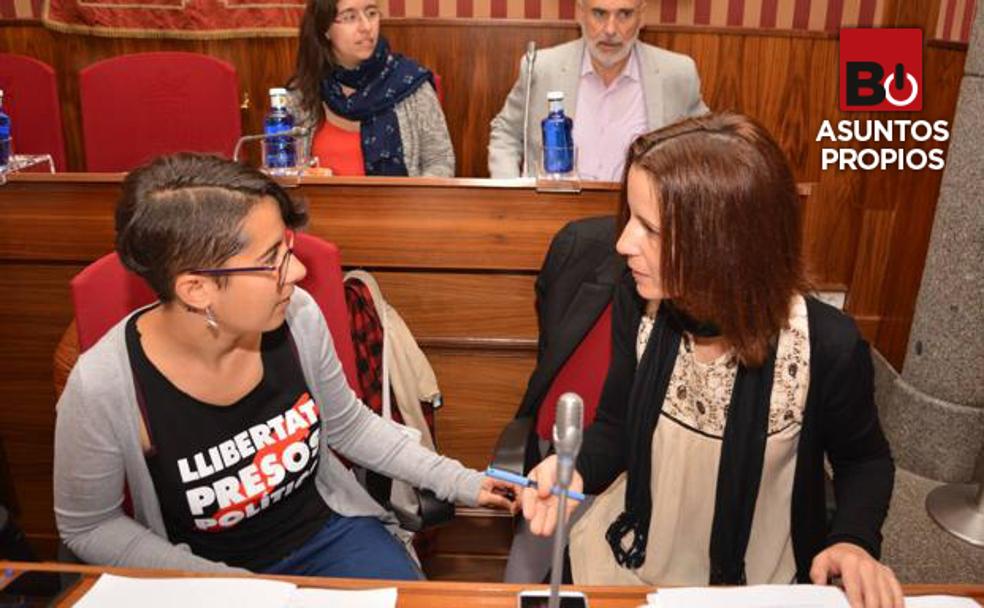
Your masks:
<svg viewBox="0 0 984 608"><path fill-rule="evenodd" d="M395 608L396 588L300 589L259 578L130 578L104 574L76 608Z"/></svg>

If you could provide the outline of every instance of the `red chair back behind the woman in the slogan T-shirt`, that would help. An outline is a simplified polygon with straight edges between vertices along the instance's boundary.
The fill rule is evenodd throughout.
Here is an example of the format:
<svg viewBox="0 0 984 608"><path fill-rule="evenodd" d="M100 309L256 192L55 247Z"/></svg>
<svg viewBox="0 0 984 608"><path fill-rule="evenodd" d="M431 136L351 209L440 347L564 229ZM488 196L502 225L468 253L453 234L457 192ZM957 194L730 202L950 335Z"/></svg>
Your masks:
<svg viewBox="0 0 984 608"><path fill-rule="evenodd" d="M357 393L358 370L345 291L342 284L338 247L317 237L299 233L294 239L294 255L307 267L299 286L308 291L321 308L331 331L335 351L349 386ZM123 267L110 253L86 266L71 282L79 350L85 352L134 309L150 304L157 296L147 283Z"/></svg>

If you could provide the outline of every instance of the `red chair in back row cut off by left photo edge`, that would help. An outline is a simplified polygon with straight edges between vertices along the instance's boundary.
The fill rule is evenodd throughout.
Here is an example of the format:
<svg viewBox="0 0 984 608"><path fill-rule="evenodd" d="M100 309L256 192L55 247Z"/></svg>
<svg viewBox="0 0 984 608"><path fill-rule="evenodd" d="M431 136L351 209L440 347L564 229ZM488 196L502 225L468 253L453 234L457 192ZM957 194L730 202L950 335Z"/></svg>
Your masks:
<svg viewBox="0 0 984 608"><path fill-rule="evenodd" d="M68 169L58 85L51 66L31 57L0 53L0 89L13 126L14 152L50 154L56 170Z"/></svg>

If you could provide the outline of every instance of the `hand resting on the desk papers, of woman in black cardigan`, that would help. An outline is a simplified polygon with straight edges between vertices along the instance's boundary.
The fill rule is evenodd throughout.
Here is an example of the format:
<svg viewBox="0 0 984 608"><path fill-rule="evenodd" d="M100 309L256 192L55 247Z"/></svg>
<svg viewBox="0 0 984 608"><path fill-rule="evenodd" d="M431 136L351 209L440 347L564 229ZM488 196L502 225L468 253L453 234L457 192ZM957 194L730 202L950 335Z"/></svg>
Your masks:
<svg viewBox="0 0 984 608"><path fill-rule="evenodd" d="M840 576L851 608L903 608L902 586L895 573L852 543L831 545L813 558L810 579L826 585Z"/></svg>

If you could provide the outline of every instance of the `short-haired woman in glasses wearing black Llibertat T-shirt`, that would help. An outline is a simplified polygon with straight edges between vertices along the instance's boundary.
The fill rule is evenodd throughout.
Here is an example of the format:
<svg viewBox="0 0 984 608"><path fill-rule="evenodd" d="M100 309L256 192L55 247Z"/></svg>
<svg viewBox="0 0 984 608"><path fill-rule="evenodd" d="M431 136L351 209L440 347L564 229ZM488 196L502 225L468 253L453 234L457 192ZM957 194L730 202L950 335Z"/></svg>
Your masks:
<svg viewBox="0 0 984 608"><path fill-rule="evenodd" d="M82 353L58 402L55 515L86 562L420 578L335 452L445 500L509 506L356 398L297 287L306 219L268 176L218 157L126 177L116 249L159 301Z"/></svg>

